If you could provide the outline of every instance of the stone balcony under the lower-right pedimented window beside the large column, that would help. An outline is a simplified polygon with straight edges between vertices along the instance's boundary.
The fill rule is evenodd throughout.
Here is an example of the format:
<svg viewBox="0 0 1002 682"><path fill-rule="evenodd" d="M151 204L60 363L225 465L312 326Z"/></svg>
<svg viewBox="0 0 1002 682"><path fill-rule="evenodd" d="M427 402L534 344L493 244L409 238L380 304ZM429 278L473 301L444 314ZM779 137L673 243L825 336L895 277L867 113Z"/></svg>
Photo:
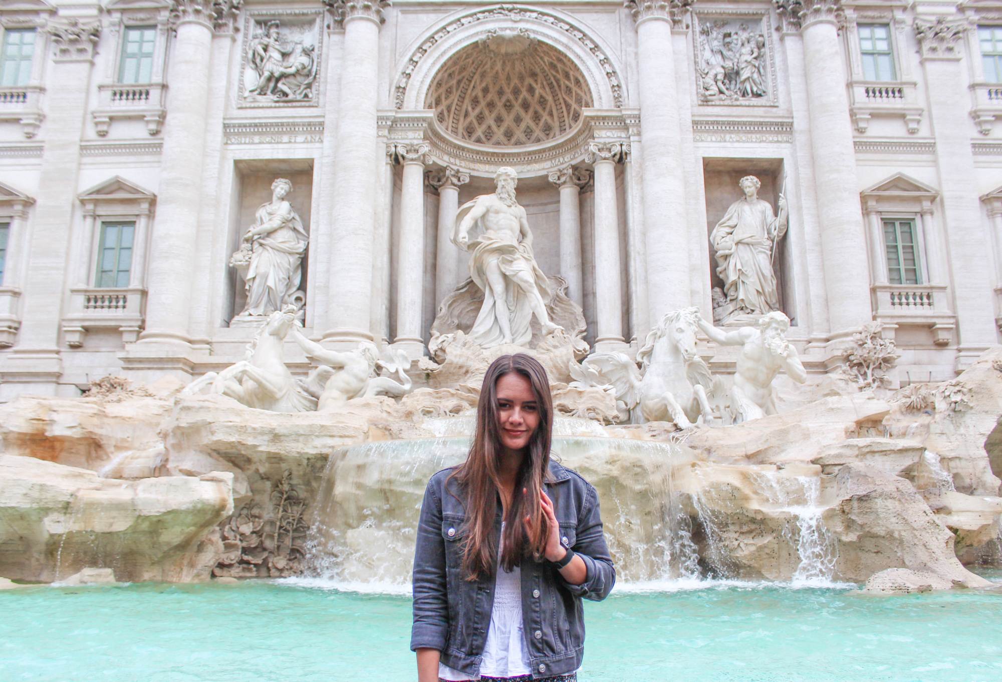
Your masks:
<svg viewBox="0 0 1002 682"><path fill-rule="evenodd" d="M929 327L933 343L948 345L957 326L947 288L936 284L875 284L871 288L875 317L897 326Z"/></svg>

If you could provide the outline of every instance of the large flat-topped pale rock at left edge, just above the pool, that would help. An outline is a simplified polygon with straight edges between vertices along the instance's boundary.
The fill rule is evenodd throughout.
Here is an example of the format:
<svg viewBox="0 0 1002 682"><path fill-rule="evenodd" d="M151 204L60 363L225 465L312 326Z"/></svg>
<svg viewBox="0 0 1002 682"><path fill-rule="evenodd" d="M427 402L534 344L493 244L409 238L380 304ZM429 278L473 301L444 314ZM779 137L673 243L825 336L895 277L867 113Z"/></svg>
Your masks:
<svg viewBox="0 0 1002 682"><path fill-rule="evenodd" d="M228 473L116 481L0 455L0 573L51 582L105 566L128 582L204 580L232 511Z"/></svg>

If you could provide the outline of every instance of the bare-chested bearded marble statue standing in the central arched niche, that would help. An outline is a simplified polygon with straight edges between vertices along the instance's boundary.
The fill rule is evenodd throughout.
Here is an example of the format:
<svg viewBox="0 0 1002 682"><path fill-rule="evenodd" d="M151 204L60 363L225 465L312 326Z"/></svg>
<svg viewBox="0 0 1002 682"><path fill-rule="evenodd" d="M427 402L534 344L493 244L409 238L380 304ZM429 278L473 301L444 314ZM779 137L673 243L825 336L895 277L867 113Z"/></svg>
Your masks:
<svg viewBox="0 0 1002 682"><path fill-rule="evenodd" d="M470 251L470 276L484 302L469 336L490 348L532 338L533 316L545 336L560 329L546 312L553 296L546 275L532 254L532 233L525 209L515 200L517 176L511 168L495 175L497 191L464 204L456 216L453 243ZM471 239L470 231L479 228Z"/></svg>

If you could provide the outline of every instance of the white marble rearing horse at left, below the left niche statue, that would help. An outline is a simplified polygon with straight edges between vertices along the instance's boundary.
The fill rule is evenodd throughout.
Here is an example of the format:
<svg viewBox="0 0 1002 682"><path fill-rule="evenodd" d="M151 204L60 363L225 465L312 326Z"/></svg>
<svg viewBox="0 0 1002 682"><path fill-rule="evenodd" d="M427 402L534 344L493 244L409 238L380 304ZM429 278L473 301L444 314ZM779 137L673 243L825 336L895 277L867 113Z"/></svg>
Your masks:
<svg viewBox="0 0 1002 682"><path fill-rule="evenodd" d="M218 374L208 372L185 387L184 395L194 395L210 386L213 393L229 396L247 407L272 412L309 412L317 409L317 399L296 379L283 360L283 343L296 327L296 306L288 305L272 313L243 359Z"/></svg>

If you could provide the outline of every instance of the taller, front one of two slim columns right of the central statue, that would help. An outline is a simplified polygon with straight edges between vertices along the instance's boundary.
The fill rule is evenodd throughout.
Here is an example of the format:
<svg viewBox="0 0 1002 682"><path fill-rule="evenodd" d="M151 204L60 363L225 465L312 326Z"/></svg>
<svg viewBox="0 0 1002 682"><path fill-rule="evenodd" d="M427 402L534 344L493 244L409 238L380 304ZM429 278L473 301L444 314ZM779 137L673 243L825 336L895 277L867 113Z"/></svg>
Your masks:
<svg viewBox="0 0 1002 682"><path fill-rule="evenodd" d="M592 142L588 161L595 167L595 350L621 350L622 268L619 265L619 210L616 162L619 142Z"/></svg>

